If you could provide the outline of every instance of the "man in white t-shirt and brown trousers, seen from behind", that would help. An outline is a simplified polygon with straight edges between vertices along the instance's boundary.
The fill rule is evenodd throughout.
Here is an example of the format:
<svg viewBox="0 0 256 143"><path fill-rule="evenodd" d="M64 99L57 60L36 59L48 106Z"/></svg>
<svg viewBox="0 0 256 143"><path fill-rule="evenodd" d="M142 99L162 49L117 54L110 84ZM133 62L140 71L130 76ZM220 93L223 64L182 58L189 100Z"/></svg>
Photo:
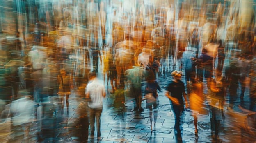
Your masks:
<svg viewBox="0 0 256 143"><path fill-rule="evenodd" d="M89 99L88 106L90 112L91 136L94 136L94 122L96 118L97 137L101 136L100 117L103 108L103 98L106 96L103 81L96 78L95 72L89 73L89 83L86 87L85 96Z"/></svg>

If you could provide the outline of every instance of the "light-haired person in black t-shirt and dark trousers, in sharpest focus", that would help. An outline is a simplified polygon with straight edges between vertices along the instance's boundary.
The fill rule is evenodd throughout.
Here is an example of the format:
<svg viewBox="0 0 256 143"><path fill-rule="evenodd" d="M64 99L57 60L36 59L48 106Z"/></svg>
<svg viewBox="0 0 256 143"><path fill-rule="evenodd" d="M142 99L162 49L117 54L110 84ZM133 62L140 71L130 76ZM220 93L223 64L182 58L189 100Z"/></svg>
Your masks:
<svg viewBox="0 0 256 143"><path fill-rule="evenodd" d="M174 112L175 117L175 126L174 129L177 131L177 139L179 141L182 140L181 138L181 128L180 128L180 121L181 115L184 111L184 101L185 100L185 107L188 107L187 103L187 95L185 94L185 86L184 83L181 81L182 72L181 71L173 71L171 73L173 79L167 86L167 92L165 96L169 98L171 107Z"/></svg>

